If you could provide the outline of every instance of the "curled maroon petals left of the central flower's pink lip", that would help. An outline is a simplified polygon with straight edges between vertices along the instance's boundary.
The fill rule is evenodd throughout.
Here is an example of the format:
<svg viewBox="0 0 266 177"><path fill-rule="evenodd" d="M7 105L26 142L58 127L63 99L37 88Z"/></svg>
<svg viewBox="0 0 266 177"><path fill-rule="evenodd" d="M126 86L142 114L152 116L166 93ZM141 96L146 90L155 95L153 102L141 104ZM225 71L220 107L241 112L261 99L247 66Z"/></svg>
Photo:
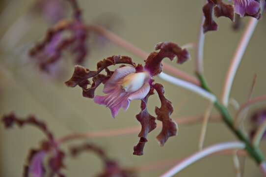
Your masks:
<svg viewBox="0 0 266 177"><path fill-rule="evenodd" d="M115 64L130 64L135 66L135 63L133 63L132 59L126 56L112 56L103 59L97 63L96 71L90 71L83 66L76 65L72 77L70 80L65 82L65 84L68 87L76 87L79 85L83 90L84 97L93 98L95 89L97 89L101 83L105 82L112 74L112 72L108 70L108 66ZM100 72L104 69L106 69L107 75L100 74ZM88 87L88 85L90 85L88 79L90 78L92 78L93 83L91 87Z"/></svg>

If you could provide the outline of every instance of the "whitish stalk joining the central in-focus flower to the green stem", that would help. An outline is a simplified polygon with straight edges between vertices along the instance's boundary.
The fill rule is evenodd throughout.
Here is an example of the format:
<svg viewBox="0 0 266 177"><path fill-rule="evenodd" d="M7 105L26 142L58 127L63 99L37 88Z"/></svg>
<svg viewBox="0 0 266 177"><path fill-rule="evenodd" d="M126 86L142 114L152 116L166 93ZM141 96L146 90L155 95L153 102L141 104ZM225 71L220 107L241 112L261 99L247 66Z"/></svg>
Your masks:
<svg viewBox="0 0 266 177"><path fill-rule="evenodd" d="M185 89L193 91L193 92L201 95L202 97L210 100L211 102L216 101L216 97L212 93L210 93L210 92L208 92L208 91L206 91L206 90L204 90L198 86L195 86L194 84L191 84L189 82L183 81L183 80L178 79L178 78L175 78L175 77L170 76L170 75L165 74L165 73L160 73L159 77L161 79L167 81L167 82L170 82L170 83L176 85L176 86L183 87Z"/></svg>

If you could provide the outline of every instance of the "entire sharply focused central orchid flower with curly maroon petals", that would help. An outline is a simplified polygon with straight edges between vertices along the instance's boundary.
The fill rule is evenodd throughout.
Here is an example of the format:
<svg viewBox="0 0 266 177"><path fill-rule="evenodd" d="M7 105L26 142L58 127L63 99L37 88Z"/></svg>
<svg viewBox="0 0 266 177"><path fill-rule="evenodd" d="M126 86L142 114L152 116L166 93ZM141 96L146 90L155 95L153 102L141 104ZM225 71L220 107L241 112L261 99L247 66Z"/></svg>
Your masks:
<svg viewBox="0 0 266 177"><path fill-rule="evenodd" d="M76 66L72 78L66 82L68 87L79 85L84 97L94 98L96 103L110 108L113 117L118 114L121 107L127 110L131 100L141 100L141 112L136 115L136 118L141 123L142 129L138 135L139 143L134 147L135 155L143 154L147 135L156 128L156 118L147 110L148 98L154 94L154 90L157 91L161 101L161 107L155 109L157 119L162 121L162 130L157 136L160 145L163 146L169 137L177 134L177 125L170 118L173 112L171 102L164 97L163 86L154 83L152 78L162 71L162 59L173 60L177 57L177 63L183 63L189 58L189 54L186 49L172 42L159 43L156 45L156 50L160 51L151 53L145 60L144 67L141 64L136 65L129 57L112 56L98 62L96 71ZM116 64L122 64L122 66L114 72L108 69L110 65ZM106 75L100 74L104 69ZM90 78L92 78L92 84L88 80ZM105 84L103 92L106 95L94 97L95 89L101 83ZM90 84L91 87L88 87Z"/></svg>

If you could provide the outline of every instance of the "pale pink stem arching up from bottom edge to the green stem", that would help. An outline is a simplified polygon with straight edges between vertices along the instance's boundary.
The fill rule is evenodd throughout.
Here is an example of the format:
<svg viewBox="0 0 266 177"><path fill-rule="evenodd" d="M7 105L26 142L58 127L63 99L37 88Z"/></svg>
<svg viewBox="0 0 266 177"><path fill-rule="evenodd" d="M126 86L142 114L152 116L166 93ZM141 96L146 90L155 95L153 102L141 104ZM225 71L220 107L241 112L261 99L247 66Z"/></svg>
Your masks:
<svg viewBox="0 0 266 177"><path fill-rule="evenodd" d="M221 150L226 150L226 149L243 149L243 148L245 148L245 144L241 142L226 142L210 146L189 156L188 158L186 158L185 160L174 166L172 169L170 169L160 177L172 177L181 170L185 169L187 166L191 165L192 163L208 155L211 155L215 152L219 152Z"/></svg>

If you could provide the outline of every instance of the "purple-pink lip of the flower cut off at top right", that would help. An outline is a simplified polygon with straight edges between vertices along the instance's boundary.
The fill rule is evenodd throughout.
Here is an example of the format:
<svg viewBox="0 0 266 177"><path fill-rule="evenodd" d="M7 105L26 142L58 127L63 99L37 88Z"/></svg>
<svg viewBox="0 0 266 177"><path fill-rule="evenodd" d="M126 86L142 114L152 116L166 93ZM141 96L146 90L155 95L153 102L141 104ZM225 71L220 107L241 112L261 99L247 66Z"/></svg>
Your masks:
<svg viewBox="0 0 266 177"><path fill-rule="evenodd" d="M234 0L235 12L243 17L247 15L255 15L260 10L260 2L256 0Z"/></svg>

